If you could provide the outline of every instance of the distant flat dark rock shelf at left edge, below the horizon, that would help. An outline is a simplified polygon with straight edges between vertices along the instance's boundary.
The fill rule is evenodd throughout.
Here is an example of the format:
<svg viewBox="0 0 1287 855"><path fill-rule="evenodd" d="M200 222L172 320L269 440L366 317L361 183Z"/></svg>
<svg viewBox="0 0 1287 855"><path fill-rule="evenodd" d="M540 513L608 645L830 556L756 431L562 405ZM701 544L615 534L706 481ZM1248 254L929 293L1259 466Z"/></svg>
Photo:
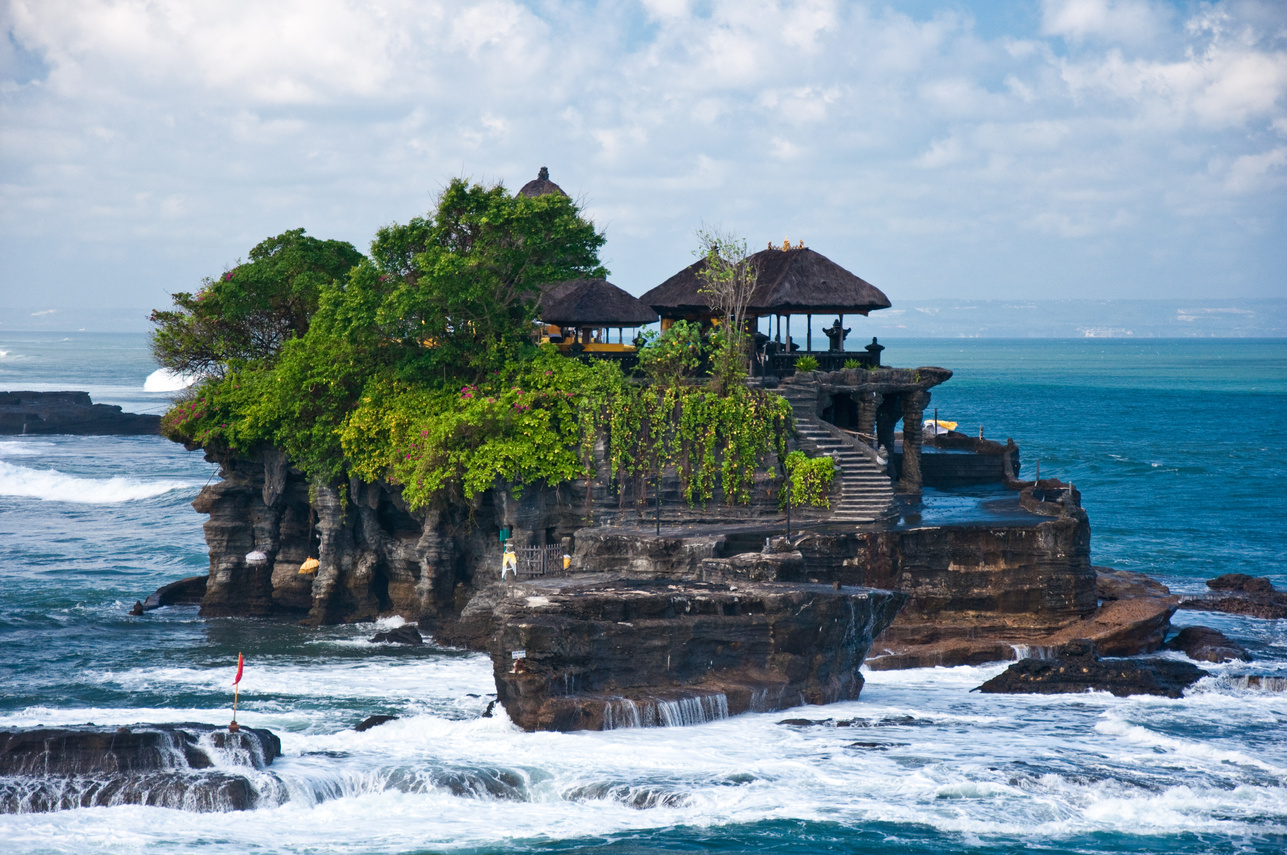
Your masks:
<svg viewBox="0 0 1287 855"><path fill-rule="evenodd" d="M0 434L161 433L161 416L95 404L88 391L0 391Z"/></svg>

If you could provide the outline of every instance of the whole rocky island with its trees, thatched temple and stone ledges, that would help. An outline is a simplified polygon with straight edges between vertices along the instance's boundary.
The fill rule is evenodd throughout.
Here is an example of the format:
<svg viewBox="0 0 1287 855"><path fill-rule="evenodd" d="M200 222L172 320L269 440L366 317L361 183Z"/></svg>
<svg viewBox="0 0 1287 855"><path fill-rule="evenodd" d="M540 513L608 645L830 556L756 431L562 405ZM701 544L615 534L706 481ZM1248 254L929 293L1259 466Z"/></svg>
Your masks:
<svg viewBox="0 0 1287 855"><path fill-rule="evenodd" d="M402 615L489 653L529 730L852 699L864 659L1162 646L1179 600L1090 564L1075 487L927 421L951 371L846 349L884 294L803 243L701 237L636 300L547 175L457 180L369 256L288 232L175 295L154 353L208 379L162 431L220 464L202 614ZM793 337L824 313L826 349ZM968 510L924 501L963 484Z"/></svg>

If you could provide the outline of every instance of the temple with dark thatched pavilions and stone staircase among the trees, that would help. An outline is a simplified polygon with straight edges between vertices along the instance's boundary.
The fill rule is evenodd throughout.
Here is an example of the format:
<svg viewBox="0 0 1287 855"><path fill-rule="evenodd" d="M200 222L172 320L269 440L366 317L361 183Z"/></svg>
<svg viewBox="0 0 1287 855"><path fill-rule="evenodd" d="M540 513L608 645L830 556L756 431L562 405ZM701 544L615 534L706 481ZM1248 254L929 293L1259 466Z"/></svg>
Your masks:
<svg viewBox="0 0 1287 855"><path fill-rule="evenodd" d="M519 193L562 193L541 167L535 180ZM888 309L889 297L870 282L804 246L803 241L770 245L746 259L754 287L746 303L753 382L775 388L795 412L802 444L840 464L843 496L837 514L846 520L876 520L892 515L889 484L898 493L918 496L924 484L920 426L929 390L951 377L943 368L906 371L882 366L884 346L875 337L860 349L847 349L852 327L846 318ZM637 364L638 344L625 330L660 321L709 328L719 322L701 277L705 259L669 277L641 297L606 279L575 279L546 286L539 304L542 336L571 357L611 359L623 368ZM813 317L834 314L815 349ZM804 315L803 343L793 335L792 318ZM762 330L763 328L763 330ZM616 341L613 341L613 331ZM825 337L825 346L821 339ZM801 346L803 344L803 348ZM808 357L812 368L798 371ZM914 430L896 433L898 422ZM937 420L932 434L937 435ZM958 444L960 444L959 438ZM994 443L995 446L995 443ZM960 462L960 461L952 461ZM937 469L936 467L936 473ZM1000 466L985 466L996 480Z"/></svg>

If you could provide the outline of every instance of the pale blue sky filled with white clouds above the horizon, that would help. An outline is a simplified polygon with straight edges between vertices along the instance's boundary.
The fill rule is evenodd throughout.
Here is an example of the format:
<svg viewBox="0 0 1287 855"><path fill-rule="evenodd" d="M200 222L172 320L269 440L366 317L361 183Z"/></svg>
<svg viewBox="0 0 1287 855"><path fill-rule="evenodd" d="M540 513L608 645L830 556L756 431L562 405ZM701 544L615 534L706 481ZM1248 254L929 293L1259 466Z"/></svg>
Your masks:
<svg viewBox="0 0 1287 855"><path fill-rule="evenodd" d="M641 294L699 228L901 300L1287 296L1282 0L0 0L0 327L144 330L548 166Z"/></svg>

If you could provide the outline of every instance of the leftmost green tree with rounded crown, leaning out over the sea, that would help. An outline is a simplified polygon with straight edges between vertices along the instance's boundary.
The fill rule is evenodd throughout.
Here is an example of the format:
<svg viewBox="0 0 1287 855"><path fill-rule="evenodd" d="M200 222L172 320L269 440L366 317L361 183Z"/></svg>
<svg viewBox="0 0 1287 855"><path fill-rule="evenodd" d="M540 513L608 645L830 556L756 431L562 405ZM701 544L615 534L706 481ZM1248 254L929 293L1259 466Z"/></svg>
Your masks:
<svg viewBox="0 0 1287 855"><path fill-rule="evenodd" d="M187 375L224 376L229 367L272 362L302 336L322 290L342 281L363 256L344 241L283 232L250 251L250 260L196 294L174 295L174 309L152 313L152 355Z"/></svg>

